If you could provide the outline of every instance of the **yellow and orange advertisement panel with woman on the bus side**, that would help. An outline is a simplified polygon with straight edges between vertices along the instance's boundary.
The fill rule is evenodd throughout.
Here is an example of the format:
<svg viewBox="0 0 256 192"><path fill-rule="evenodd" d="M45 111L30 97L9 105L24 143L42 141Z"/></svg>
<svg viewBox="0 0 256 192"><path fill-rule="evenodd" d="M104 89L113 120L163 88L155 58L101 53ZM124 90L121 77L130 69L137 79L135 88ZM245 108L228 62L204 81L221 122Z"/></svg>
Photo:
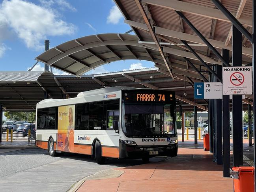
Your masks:
<svg viewBox="0 0 256 192"><path fill-rule="evenodd" d="M56 148L74 152L75 105L58 107L58 134Z"/></svg>

